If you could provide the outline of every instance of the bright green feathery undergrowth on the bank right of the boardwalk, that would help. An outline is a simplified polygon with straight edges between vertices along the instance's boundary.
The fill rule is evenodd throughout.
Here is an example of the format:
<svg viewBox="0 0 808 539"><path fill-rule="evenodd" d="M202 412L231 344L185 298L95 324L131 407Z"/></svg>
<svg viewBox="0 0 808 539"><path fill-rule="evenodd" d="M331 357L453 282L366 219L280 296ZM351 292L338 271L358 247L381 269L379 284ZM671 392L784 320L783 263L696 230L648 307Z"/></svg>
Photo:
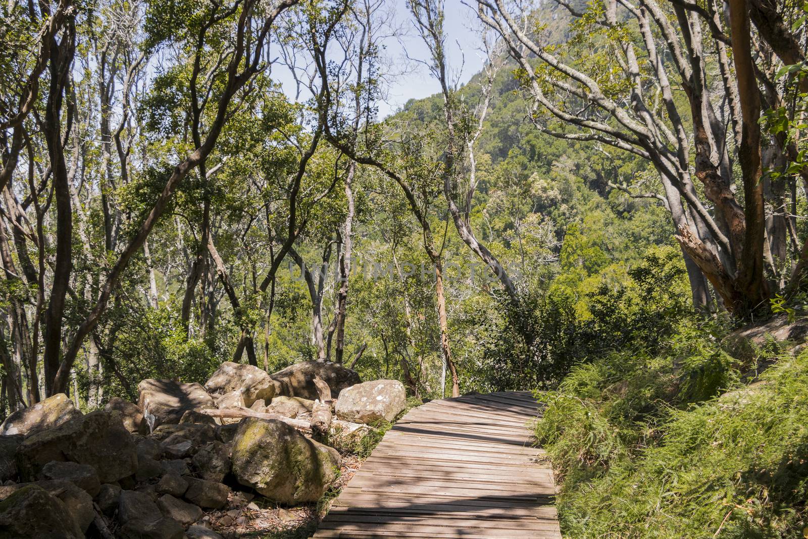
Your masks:
<svg viewBox="0 0 808 539"><path fill-rule="evenodd" d="M739 360L722 336L684 329L538 395L565 537L808 537L808 351ZM772 367L744 379L761 356Z"/></svg>

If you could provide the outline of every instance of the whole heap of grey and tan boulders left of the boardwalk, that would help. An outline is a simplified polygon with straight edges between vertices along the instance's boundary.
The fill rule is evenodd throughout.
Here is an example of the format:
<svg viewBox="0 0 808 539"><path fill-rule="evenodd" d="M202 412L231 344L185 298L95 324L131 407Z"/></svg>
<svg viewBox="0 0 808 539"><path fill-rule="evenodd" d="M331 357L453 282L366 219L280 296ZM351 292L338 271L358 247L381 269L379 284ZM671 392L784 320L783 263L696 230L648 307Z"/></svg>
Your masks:
<svg viewBox="0 0 808 539"><path fill-rule="evenodd" d="M331 435L360 436L406 399L398 381L318 362L274 374L227 362L204 385L144 380L138 393L86 415L57 394L6 418L0 537L221 537L211 513L240 518L255 495L314 502L335 481L318 411Z"/></svg>

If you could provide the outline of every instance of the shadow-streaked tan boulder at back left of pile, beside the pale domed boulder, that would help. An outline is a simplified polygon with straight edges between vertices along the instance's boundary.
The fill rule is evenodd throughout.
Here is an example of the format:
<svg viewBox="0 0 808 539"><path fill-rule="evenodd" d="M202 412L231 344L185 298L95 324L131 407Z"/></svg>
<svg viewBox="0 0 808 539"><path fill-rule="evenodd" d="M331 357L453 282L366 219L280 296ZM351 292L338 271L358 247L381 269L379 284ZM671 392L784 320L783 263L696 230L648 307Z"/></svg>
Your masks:
<svg viewBox="0 0 808 539"><path fill-rule="evenodd" d="M202 385L173 380L144 380L137 385L137 404L149 431L163 424L176 424L188 410L215 408Z"/></svg>

